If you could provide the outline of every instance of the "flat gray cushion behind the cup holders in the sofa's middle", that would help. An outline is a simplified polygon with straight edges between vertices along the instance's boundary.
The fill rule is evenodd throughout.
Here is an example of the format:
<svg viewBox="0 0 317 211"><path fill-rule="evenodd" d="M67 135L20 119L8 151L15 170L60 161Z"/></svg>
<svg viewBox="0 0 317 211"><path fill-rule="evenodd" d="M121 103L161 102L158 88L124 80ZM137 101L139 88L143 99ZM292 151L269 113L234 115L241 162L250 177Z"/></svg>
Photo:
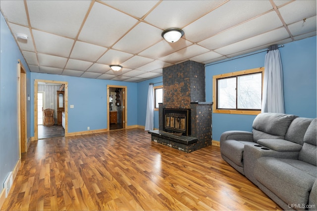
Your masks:
<svg viewBox="0 0 317 211"><path fill-rule="evenodd" d="M258 144L277 152L299 152L302 145L284 139L260 139Z"/></svg>

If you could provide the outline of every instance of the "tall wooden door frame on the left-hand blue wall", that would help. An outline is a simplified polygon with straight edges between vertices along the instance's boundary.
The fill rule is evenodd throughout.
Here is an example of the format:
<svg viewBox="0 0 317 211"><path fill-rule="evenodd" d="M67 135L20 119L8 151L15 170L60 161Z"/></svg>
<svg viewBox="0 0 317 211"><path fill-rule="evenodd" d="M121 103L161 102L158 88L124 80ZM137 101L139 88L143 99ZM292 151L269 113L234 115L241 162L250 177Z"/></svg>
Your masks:
<svg viewBox="0 0 317 211"><path fill-rule="evenodd" d="M20 59L17 64L18 74L18 139L19 158L27 152L27 116L26 116L26 71Z"/></svg>

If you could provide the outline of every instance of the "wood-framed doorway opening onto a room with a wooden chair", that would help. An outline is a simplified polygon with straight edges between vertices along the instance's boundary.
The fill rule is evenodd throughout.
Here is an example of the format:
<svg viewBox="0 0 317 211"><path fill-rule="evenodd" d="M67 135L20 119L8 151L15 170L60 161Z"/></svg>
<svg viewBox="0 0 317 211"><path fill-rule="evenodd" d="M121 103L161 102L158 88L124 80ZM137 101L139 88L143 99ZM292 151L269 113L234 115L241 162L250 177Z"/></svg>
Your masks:
<svg viewBox="0 0 317 211"><path fill-rule="evenodd" d="M62 93L62 97L59 94ZM34 81L34 139L67 136L68 84ZM51 110L50 110L51 109ZM51 112L53 110L53 113Z"/></svg>

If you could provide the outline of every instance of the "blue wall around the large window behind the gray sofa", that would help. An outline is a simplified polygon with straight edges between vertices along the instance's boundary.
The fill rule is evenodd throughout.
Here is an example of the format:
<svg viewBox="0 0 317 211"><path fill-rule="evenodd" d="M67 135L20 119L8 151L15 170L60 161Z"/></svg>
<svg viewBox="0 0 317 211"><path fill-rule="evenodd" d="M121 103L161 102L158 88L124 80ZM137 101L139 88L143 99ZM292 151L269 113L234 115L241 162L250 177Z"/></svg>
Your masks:
<svg viewBox="0 0 317 211"><path fill-rule="evenodd" d="M316 118L316 36L279 48L284 83L285 113ZM264 67L265 53L257 53L206 66L206 101L212 101L212 76ZM227 130L252 130L255 115L212 114L212 139Z"/></svg>

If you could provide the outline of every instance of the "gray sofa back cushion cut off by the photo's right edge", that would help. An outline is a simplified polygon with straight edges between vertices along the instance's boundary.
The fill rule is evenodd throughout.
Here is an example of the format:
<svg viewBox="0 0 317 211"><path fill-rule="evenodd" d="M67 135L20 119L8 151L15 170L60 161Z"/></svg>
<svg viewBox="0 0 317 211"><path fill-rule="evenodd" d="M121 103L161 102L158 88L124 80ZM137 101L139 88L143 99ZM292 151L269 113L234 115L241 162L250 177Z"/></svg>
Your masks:
<svg viewBox="0 0 317 211"><path fill-rule="evenodd" d="M299 160L303 160L315 166L317 165L316 133L317 124L315 118L307 128L304 136L304 145L298 157Z"/></svg>

